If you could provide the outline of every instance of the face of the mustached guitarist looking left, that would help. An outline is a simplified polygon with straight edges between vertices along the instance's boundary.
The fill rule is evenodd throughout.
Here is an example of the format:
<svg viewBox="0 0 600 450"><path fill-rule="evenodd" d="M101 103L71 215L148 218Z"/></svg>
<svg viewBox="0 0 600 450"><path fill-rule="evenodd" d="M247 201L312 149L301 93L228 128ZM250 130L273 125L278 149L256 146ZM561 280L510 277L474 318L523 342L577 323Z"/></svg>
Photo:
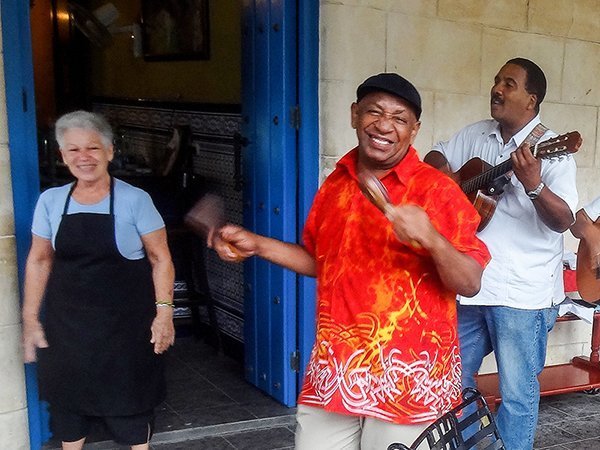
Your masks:
<svg viewBox="0 0 600 450"><path fill-rule="evenodd" d="M494 78L490 92L490 112L510 136L536 115L537 96L526 89L527 72L516 64L506 64ZM509 137L510 137L509 136Z"/></svg>

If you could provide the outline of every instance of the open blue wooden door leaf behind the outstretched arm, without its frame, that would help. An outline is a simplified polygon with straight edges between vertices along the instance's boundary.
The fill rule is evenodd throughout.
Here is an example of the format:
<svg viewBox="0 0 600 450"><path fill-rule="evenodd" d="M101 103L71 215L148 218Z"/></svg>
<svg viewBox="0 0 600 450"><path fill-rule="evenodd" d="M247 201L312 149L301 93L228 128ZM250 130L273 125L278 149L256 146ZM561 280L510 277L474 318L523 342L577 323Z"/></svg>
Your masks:
<svg viewBox="0 0 600 450"><path fill-rule="evenodd" d="M244 0L242 13L244 225L298 237L296 2ZM244 268L246 378L286 405L296 400L296 275L252 258Z"/></svg>

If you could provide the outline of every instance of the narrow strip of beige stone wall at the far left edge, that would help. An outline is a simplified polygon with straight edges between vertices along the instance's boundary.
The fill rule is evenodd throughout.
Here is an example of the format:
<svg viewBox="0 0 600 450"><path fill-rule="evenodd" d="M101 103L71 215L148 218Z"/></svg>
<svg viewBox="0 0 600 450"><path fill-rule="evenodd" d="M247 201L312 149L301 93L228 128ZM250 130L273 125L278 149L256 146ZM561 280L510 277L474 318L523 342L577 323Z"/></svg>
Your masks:
<svg viewBox="0 0 600 450"><path fill-rule="evenodd" d="M0 33L0 39L1 36ZM29 433L20 346L19 289L3 61L2 54L0 56L0 361L2 361L0 364L0 448L19 450L29 448Z"/></svg>

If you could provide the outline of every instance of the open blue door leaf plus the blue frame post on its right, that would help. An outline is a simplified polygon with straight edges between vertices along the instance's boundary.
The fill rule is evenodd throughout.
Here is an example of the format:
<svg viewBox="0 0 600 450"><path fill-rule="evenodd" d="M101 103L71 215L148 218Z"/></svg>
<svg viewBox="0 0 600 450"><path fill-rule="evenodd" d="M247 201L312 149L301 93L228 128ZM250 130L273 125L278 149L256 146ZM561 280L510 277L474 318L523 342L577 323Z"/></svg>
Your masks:
<svg viewBox="0 0 600 450"><path fill-rule="evenodd" d="M306 34L317 23L318 1L243 2L244 225L288 242L300 240L317 184L317 37ZM301 101L311 113L304 127ZM314 285L257 258L244 280L246 378L293 406L314 336Z"/></svg>

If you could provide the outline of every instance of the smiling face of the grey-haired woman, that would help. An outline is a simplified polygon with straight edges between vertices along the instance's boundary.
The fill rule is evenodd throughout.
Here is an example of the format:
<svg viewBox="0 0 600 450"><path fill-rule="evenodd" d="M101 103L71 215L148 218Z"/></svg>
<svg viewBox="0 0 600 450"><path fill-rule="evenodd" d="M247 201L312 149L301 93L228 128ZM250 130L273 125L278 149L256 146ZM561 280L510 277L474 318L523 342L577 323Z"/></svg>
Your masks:
<svg viewBox="0 0 600 450"><path fill-rule="evenodd" d="M100 133L84 128L70 128L63 134L60 149L64 163L77 180L94 183L108 175L113 146L106 146Z"/></svg>

